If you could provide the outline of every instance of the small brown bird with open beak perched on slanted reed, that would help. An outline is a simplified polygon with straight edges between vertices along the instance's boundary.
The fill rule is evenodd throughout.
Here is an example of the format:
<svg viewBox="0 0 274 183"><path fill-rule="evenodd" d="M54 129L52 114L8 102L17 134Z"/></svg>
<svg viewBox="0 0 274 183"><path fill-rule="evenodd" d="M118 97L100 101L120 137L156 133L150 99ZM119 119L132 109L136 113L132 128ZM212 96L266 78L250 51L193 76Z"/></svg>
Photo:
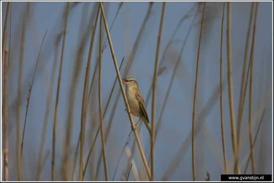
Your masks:
<svg viewBox="0 0 274 183"><path fill-rule="evenodd" d="M151 138L152 137L151 127L150 127L148 115L146 112L145 103L143 101L137 81L134 78L130 78L130 77L123 80L125 81L123 83L125 83L126 85L126 96L131 109L130 113L142 119Z"/></svg>

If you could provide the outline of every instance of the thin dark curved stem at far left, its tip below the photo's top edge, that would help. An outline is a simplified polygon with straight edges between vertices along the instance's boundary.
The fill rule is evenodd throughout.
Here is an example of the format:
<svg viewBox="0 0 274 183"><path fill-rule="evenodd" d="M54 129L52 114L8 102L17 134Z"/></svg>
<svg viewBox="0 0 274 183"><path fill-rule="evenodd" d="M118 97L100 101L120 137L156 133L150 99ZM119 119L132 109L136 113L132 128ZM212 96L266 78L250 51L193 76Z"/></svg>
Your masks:
<svg viewBox="0 0 274 183"><path fill-rule="evenodd" d="M32 84L33 84L33 81L34 81L34 76L35 76L35 73L36 73L36 68L37 68L37 65L38 65L38 61L39 61L39 57L40 57L42 45L43 45L44 39L46 37L46 34L47 34L47 31L46 31L46 33L44 35L44 38L42 40L42 43L41 43L41 47L40 47L40 50L39 50L39 54L38 54L36 66L35 66L35 69L34 69L34 74L33 74L33 77L32 77L31 85L30 85L30 83L28 84L29 89L28 89L28 94L27 94L26 115L25 115L25 122L24 122L24 129L23 129L23 136L22 136L22 143L21 143L21 151L20 151L18 181L21 181L22 155L23 155L23 145L24 145L24 135L25 135L25 127L26 127L26 117L27 117L27 111L28 111L28 104L29 104L29 99L30 99Z"/></svg>

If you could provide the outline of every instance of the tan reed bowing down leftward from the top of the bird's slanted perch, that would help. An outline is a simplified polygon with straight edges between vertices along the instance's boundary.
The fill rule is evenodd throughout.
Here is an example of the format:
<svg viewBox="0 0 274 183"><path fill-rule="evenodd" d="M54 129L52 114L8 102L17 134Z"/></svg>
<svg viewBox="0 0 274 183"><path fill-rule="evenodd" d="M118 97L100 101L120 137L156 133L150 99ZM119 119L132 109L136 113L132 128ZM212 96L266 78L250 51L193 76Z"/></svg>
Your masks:
<svg viewBox="0 0 274 183"><path fill-rule="evenodd" d="M91 56L92 56L92 50L93 50L93 43L94 43L94 37L97 27L97 21L99 17L99 11L100 6L98 6L97 10L97 16L95 20L94 29L92 32L91 42L90 42L90 50L89 50L89 56L88 56L88 63L86 68L86 75L85 75L85 83L84 83L84 91L83 91L83 100L82 100L82 112L81 112L81 131L80 131L80 167L79 167L79 180L84 181L83 172L84 172L84 119L85 119L85 106L88 101L86 101L87 98L87 91L88 91L88 78L90 74L90 62L91 62Z"/></svg>

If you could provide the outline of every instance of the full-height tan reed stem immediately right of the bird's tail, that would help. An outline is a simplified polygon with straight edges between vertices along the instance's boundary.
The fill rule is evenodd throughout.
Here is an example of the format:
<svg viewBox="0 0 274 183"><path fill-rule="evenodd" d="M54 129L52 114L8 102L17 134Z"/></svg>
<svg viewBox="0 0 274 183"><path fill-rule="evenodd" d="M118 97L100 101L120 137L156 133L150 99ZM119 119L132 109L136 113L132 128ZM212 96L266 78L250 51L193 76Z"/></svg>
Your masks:
<svg viewBox="0 0 274 183"><path fill-rule="evenodd" d="M152 137L151 137L151 181L154 181L154 171L155 171L155 162L154 162L154 150L155 150L155 105L156 105L156 84L157 84L157 75L158 75L158 61L161 47L161 37L162 37L162 29L163 29L163 20L165 13L165 5L166 2L163 2L162 7L162 16L159 28L158 42L157 42L157 50L156 50L156 59L154 66L154 76L153 76L153 90L152 90L152 120L151 120L151 128L152 128Z"/></svg>

